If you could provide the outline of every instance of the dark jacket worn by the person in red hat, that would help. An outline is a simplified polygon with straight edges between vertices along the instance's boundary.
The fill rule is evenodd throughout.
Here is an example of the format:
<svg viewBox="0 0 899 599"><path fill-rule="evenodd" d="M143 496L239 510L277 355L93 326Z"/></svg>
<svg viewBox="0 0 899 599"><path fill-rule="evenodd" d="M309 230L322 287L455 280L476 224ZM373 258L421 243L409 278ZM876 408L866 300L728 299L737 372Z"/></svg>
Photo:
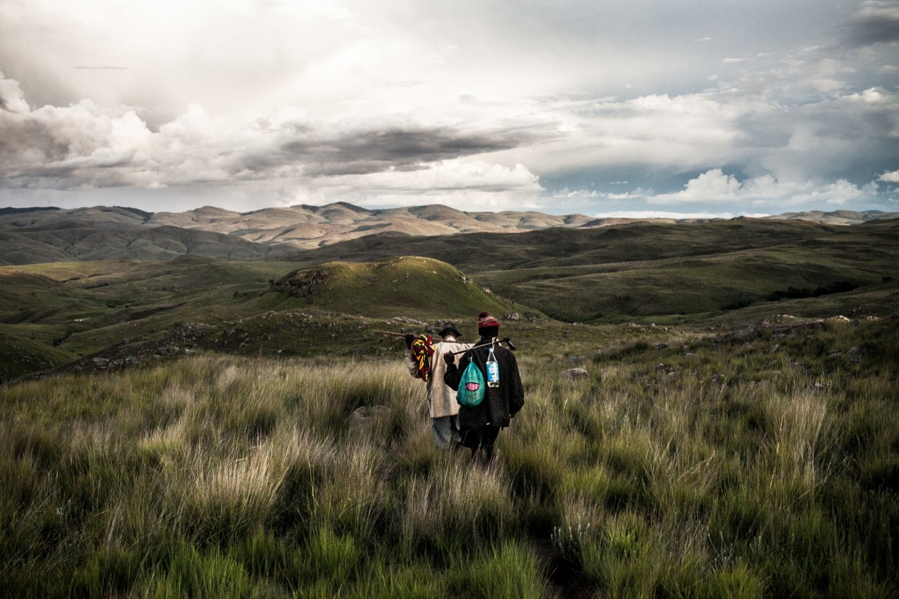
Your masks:
<svg viewBox="0 0 899 599"><path fill-rule="evenodd" d="M468 350L456 364L447 367L443 381L450 388L458 390L458 381L462 378L468 362L475 362L487 378L487 356L490 355L490 340L481 339ZM459 407L458 429L460 432L480 428L485 425L508 426L512 416L524 406L524 388L521 386L521 375L518 362L511 350L494 344L494 355L499 362L500 386L488 387L484 401L476 407Z"/></svg>

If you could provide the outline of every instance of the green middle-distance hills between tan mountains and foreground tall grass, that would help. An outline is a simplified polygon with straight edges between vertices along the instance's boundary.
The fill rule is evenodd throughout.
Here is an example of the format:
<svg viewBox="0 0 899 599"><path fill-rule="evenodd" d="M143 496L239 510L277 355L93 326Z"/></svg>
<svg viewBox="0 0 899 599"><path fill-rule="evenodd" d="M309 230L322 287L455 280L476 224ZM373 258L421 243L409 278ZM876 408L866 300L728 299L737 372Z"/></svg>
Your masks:
<svg viewBox="0 0 899 599"><path fill-rule="evenodd" d="M366 331L395 329L395 317L422 323L451 317L464 324L481 309L677 326L744 323L779 313L888 315L897 303L895 282L881 281L899 279L895 232L895 222L828 228L738 219L405 242L373 237L343 244L337 252L370 261L400 249L427 250L462 264L459 270L423 258L313 264L314 256L324 261L334 255L333 247L304 255L300 263L182 256L3 267L0 277L10 291L0 300L0 317L13 328L4 329L0 347L15 336L45 345L48 355L54 348L91 355L116 346L115 353L124 356L191 344L238 353L381 353L390 345ZM331 278L294 297L270 291L270 281L297 266L327 271ZM487 268L476 280L495 294L485 294L470 279L463 282ZM817 299L761 300L788 287L814 290L836 281L862 286ZM733 306L747 307L725 309ZM27 335L19 325L29 327ZM571 330L560 323L545 326L551 335ZM524 337L534 330L515 328ZM54 355L48 360L56 363Z"/></svg>

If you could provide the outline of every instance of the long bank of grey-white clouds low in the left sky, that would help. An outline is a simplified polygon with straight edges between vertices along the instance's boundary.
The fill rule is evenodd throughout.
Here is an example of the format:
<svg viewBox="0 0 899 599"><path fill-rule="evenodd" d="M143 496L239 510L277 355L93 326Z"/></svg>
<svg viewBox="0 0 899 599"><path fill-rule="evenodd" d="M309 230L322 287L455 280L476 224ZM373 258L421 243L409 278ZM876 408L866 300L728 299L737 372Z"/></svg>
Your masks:
<svg viewBox="0 0 899 599"><path fill-rule="evenodd" d="M158 187L296 177L331 183L352 177L348 180L364 186L363 175L384 173L391 180L397 173L429 169L445 174L446 165L458 158L558 135L553 123L534 120L313 121L289 110L241 123L210 115L198 104L151 131L128 107L104 112L85 101L32 111L17 82L3 79L0 90L8 107L0 114L0 175L7 186ZM469 167L467 173L478 181L498 177L495 183L477 183L482 188L503 187L507 170L497 166L472 173ZM472 186L458 177L456 182L460 189Z"/></svg>

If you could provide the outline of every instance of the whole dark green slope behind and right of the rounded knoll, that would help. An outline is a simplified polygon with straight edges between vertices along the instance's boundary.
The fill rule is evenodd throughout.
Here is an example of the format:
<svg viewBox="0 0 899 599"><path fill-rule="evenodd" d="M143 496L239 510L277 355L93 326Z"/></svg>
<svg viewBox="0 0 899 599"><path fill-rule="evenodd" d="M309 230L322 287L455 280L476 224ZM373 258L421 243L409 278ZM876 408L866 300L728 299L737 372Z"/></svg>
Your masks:
<svg viewBox="0 0 899 599"><path fill-rule="evenodd" d="M441 259L505 298L567 321L678 314L695 320L789 287L899 279L899 221L825 227L735 219L518 235L376 237L298 258L367 260L395 252Z"/></svg>

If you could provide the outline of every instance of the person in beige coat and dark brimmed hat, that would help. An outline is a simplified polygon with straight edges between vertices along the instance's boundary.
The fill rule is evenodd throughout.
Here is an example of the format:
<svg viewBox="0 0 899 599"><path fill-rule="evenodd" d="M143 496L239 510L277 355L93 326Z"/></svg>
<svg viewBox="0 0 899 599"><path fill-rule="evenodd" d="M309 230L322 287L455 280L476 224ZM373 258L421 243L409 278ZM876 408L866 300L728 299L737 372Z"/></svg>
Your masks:
<svg viewBox="0 0 899 599"><path fill-rule="evenodd" d="M458 434L458 403L456 403L456 391L449 389L443 382L447 365L443 356L447 353L464 352L471 344L458 342L461 334L456 325L447 323L440 332L441 342L434 344L434 354L431 356L431 372L426 382L428 389L428 407L431 416L432 430L434 433L434 445L438 449L449 449L461 441ZM406 335L406 345L410 345L413 335ZM405 354L405 363L409 373L416 378L421 378L418 364L411 353Z"/></svg>

